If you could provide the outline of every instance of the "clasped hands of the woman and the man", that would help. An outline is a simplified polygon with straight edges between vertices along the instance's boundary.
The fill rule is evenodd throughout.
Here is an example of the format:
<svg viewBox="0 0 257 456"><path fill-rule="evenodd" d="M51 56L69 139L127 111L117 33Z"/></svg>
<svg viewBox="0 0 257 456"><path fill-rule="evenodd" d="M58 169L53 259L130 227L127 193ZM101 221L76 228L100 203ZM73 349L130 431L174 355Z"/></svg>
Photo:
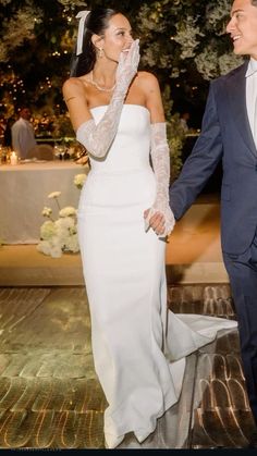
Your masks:
<svg viewBox="0 0 257 456"><path fill-rule="evenodd" d="M144 212L145 231L151 227L160 237L169 236L175 225L175 219L170 208L158 210L154 207Z"/></svg>

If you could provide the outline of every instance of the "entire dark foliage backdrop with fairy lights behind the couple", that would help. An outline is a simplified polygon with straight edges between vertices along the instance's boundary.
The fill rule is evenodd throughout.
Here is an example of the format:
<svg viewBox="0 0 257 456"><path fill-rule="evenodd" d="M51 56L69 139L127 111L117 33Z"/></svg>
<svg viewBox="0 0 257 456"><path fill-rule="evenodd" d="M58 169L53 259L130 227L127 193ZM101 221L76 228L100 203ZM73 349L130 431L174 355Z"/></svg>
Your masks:
<svg viewBox="0 0 257 456"><path fill-rule="evenodd" d="M61 86L75 15L93 5L122 11L140 39L140 69L160 82L175 174L183 145L176 113L203 110L209 81L241 63L225 35L231 0L0 0L0 114L24 103L35 113L66 112Z"/></svg>

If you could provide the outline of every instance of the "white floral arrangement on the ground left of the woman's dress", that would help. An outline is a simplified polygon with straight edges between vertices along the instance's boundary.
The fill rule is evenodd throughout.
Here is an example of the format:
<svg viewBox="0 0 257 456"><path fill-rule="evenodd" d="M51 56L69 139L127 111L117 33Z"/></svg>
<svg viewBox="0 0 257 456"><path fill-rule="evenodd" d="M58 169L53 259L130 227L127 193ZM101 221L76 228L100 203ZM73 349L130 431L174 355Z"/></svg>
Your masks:
<svg viewBox="0 0 257 456"><path fill-rule="evenodd" d="M76 174L73 183L78 189L82 189L86 174ZM77 238L77 210L72 206L61 209L59 197L61 192L52 192L48 195L49 199L53 199L58 206L59 218L52 219L52 209L45 207L41 214L46 220L40 227L40 242L37 250L49 255L52 258L60 258L64 251L76 254L79 251Z"/></svg>

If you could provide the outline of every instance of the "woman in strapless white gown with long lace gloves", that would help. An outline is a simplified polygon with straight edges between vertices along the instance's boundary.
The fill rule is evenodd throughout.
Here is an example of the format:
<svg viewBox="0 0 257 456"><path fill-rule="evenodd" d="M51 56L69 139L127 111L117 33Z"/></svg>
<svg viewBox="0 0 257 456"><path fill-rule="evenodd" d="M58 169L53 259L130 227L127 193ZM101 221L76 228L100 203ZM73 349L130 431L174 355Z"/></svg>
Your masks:
<svg viewBox="0 0 257 456"><path fill-rule="evenodd" d="M174 217L159 84L137 71L139 44L123 14L97 8L77 16L63 96L90 157L78 238L95 369L108 402L106 446L114 448L127 432L143 442L155 430L179 399L185 356L236 323L167 310L166 236ZM146 210L147 221L157 217L155 230Z"/></svg>

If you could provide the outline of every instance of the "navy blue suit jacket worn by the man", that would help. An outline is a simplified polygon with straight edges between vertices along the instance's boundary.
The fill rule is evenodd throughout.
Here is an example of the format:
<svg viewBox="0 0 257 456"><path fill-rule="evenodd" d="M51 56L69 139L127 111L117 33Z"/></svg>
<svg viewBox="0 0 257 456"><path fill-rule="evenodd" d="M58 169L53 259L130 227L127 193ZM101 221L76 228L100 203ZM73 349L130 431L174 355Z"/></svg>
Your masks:
<svg viewBox="0 0 257 456"><path fill-rule="evenodd" d="M179 220L222 159L221 242L228 254L243 254L257 226L257 150L246 110L248 62L210 83L201 133L179 178L170 206Z"/></svg>

